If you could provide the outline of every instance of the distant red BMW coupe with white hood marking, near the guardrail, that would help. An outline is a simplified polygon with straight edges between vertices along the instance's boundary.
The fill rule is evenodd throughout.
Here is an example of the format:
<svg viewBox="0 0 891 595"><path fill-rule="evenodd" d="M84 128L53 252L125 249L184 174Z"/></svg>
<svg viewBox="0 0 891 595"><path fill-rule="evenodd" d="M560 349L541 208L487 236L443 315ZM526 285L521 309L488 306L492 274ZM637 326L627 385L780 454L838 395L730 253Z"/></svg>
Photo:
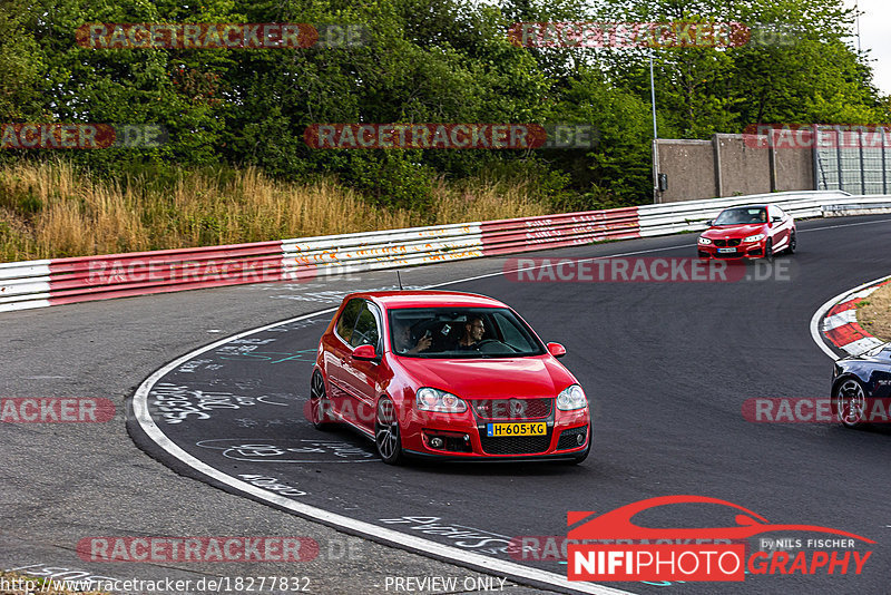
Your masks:
<svg viewBox="0 0 891 595"><path fill-rule="evenodd" d="M761 259L795 252L795 220L776 205L725 208L698 241L701 259Z"/></svg>

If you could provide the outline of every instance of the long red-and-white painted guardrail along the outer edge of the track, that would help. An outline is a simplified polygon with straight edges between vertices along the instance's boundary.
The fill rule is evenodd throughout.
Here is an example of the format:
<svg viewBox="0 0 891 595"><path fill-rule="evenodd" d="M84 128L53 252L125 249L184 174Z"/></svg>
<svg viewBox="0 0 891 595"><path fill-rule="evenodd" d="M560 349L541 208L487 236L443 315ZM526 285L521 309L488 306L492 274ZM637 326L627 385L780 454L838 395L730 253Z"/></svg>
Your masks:
<svg viewBox="0 0 891 595"><path fill-rule="evenodd" d="M774 193L539 217L0 264L0 312L695 232L728 206L774 203L797 218L891 209L891 197Z"/></svg>

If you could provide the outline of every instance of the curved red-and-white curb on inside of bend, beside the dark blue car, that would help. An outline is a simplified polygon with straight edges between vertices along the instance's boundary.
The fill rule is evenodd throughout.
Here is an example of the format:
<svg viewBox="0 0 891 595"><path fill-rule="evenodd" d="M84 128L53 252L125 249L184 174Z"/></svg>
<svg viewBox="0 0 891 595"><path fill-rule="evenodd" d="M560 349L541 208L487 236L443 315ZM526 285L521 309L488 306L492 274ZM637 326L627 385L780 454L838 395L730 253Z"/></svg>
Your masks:
<svg viewBox="0 0 891 595"><path fill-rule="evenodd" d="M830 358L839 354L861 355L884 341L863 330L856 320L858 304L882 285L891 283L891 275L877 279L831 299L811 319L811 336ZM834 349L833 349L834 348Z"/></svg>

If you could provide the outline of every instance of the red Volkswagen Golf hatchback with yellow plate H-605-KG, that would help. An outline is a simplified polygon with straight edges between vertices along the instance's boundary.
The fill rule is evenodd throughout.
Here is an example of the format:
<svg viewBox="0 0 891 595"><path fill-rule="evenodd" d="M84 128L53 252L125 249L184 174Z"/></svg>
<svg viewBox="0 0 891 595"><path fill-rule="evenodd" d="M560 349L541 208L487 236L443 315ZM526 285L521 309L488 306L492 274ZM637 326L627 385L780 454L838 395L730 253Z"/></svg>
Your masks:
<svg viewBox="0 0 891 595"><path fill-rule="evenodd" d="M442 291L347 295L319 342L310 416L349 423L384 462L565 459L590 450L588 399L513 310Z"/></svg>

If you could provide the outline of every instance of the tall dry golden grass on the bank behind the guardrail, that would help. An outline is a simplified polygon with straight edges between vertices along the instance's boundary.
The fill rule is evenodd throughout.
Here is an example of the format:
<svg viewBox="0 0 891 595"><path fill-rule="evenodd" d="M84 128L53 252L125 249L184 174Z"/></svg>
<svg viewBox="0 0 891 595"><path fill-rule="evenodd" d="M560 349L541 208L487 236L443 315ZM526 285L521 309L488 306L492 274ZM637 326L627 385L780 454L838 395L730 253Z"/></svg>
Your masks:
<svg viewBox="0 0 891 595"><path fill-rule="evenodd" d="M294 184L256 168L104 179L71 164L0 167L0 259L21 261L239 244L548 212L526 184L438 182L428 213L369 204L332 179Z"/></svg>

